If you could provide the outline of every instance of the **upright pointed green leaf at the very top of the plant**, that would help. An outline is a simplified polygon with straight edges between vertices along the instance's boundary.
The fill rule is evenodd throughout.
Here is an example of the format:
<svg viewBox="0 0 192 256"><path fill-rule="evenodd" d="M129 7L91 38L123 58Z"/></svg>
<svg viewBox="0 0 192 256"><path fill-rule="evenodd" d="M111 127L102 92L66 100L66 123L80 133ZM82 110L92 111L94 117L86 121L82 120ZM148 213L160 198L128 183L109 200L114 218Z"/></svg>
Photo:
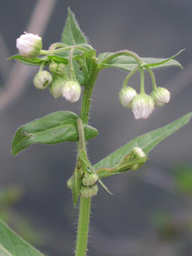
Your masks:
<svg viewBox="0 0 192 256"><path fill-rule="evenodd" d="M68 16L62 32L62 42L67 45L87 44L87 40L82 34L75 15L70 8L68 8Z"/></svg>

